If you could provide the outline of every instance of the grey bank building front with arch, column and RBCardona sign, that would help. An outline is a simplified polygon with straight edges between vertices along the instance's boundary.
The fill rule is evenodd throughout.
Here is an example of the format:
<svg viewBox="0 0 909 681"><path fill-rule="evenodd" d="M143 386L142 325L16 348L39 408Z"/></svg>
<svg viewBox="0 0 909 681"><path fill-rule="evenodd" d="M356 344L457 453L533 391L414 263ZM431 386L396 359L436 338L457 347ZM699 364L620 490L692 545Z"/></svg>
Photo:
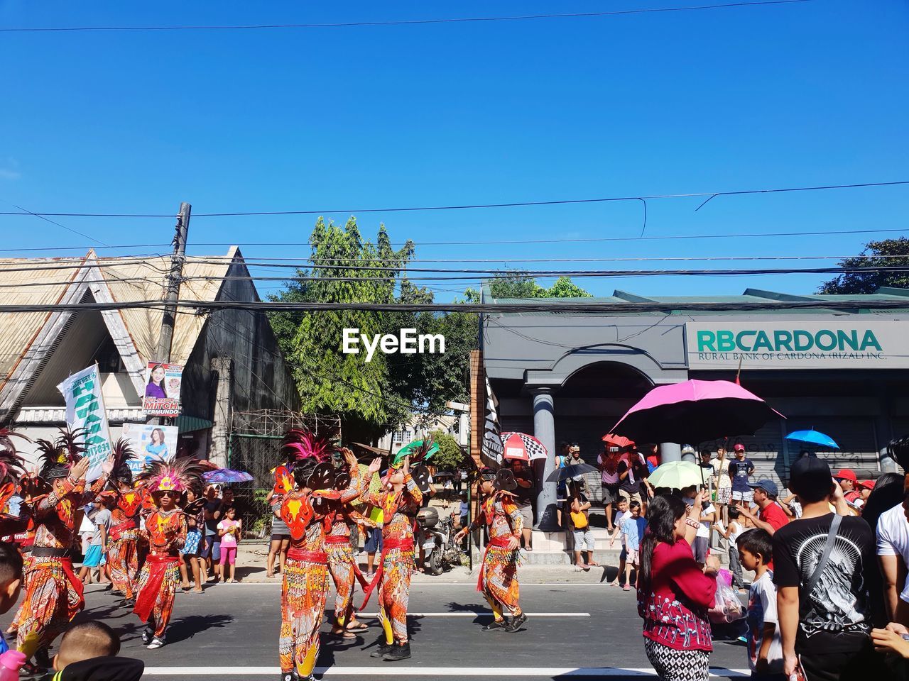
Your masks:
<svg viewBox="0 0 909 681"><path fill-rule="evenodd" d="M484 302L493 301L484 291ZM814 301L798 311L697 311L696 303ZM785 479L798 457L784 435L818 429L841 449L824 454L834 468L878 471L890 439L909 433L909 290L857 296L789 296L749 289L723 298L644 298L615 291L606 311L509 312L483 316L485 376L498 400L503 430L535 433L548 449L576 441L595 462L600 438L655 385L688 379L734 380L786 419L771 421L742 442L757 475ZM629 301L659 311L610 313ZM854 301L848 309L823 303ZM863 307L874 301L874 311ZM886 309L881 301L893 301ZM534 301L539 302L539 301ZM556 301L552 301L556 302ZM684 303L685 310L674 306ZM663 304L665 307L663 308ZM690 443L715 449L717 442ZM666 459L680 455L664 444ZM889 466L884 460L884 469Z"/></svg>

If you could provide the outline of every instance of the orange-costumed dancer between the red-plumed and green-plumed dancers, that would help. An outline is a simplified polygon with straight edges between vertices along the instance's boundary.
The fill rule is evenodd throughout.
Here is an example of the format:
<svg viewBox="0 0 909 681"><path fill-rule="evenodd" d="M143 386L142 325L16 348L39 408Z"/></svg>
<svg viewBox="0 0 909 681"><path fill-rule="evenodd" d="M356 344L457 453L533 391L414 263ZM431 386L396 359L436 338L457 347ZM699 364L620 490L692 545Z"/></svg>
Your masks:
<svg viewBox="0 0 909 681"><path fill-rule="evenodd" d="M356 564L354 546L351 543L351 525L375 527L375 523L365 518L351 502L360 498L367 481L365 472L361 472L354 452L342 449L346 468L349 472L337 475L335 493L328 500L330 511L325 519L328 536L325 538L325 549L328 553L328 571L335 582L335 626L332 634L343 638L355 638L355 631L367 629L365 623L356 619L354 614L354 587L359 581L365 588L367 582L360 567Z"/></svg>

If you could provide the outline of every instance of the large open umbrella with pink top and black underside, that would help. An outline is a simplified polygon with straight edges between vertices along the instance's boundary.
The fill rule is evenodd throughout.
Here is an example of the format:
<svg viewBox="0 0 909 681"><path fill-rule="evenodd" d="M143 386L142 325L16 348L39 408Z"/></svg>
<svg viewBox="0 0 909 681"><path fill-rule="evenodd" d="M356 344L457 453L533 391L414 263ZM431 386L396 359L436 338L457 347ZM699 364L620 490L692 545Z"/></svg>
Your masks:
<svg viewBox="0 0 909 681"><path fill-rule="evenodd" d="M764 400L728 380L686 380L644 395L613 428L638 442L697 444L754 435L768 420L785 419Z"/></svg>

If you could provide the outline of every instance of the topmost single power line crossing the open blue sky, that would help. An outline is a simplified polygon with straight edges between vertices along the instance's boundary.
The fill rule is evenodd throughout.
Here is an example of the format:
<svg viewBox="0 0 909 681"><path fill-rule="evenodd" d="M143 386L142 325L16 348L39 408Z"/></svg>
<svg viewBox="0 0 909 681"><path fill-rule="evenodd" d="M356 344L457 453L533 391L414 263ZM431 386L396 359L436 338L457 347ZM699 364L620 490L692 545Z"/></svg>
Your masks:
<svg viewBox="0 0 909 681"><path fill-rule="evenodd" d="M528 21L533 19L594 18L602 16L660 14L666 12L697 12L732 7L760 5L793 5L811 0L760 0L757 2L724 3L723 5L689 5L683 7L648 7L615 10L612 12L573 12L546 15L461 16L450 19L398 19L388 21L338 22L334 24L251 24L251 25L170 25L170 26L43 26L36 28L0 28L5 33L62 33L85 31L249 31L303 28L355 28L363 26L410 26L427 24L467 24L473 22Z"/></svg>

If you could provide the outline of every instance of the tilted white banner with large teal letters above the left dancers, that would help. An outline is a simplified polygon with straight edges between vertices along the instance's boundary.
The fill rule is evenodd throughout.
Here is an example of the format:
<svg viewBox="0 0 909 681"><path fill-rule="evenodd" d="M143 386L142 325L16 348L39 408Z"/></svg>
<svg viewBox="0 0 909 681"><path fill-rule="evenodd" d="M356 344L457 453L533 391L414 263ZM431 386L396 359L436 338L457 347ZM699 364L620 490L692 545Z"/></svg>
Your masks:
<svg viewBox="0 0 909 681"><path fill-rule="evenodd" d="M74 430L85 429L85 456L90 463L86 479L91 482L101 477L101 465L111 454L110 428L98 365L71 375L57 386L57 390L66 403L66 424Z"/></svg>

